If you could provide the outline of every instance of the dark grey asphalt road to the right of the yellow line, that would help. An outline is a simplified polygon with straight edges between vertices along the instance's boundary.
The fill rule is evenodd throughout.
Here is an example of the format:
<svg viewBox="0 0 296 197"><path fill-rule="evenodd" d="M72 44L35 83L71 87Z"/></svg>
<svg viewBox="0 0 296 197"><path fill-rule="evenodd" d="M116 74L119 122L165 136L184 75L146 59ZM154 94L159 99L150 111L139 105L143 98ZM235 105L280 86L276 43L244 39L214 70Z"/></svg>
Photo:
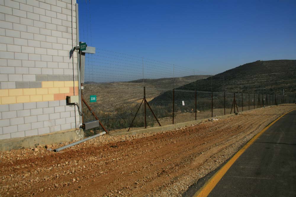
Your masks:
<svg viewBox="0 0 296 197"><path fill-rule="evenodd" d="M203 183L189 190L197 191ZM193 192L187 191L183 196L189 195L193 196ZM256 139L209 196L296 196L296 110Z"/></svg>

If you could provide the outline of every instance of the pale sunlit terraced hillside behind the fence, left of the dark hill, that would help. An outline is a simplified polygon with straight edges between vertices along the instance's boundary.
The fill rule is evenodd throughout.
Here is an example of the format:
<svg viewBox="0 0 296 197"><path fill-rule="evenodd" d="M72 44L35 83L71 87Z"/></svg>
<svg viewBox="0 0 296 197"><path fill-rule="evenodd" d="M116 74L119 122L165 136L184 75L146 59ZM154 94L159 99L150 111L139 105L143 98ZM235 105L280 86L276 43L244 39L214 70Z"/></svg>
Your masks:
<svg viewBox="0 0 296 197"><path fill-rule="evenodd" d="M89 100L90 95L97 96L97 102L91 103L92 108L104 112L114 112L118 108L127 104L137 104L143 99L143 87L146 87L147 100L161 95L168 89L180 87L185 84L206 79L209 75L192 75L176 78L161 79L139 79L129 82L95 83L86 82L84 84L83 97Z"/></svg>

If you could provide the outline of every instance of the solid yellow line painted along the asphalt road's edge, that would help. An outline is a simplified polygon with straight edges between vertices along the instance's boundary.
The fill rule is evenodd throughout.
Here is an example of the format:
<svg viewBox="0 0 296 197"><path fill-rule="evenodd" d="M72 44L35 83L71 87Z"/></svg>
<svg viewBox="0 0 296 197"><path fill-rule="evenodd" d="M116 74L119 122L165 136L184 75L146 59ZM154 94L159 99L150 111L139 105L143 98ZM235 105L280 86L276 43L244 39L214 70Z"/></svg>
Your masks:
<svg viewBox="0 0 296 197"><path fill-rule="evenodd" d="M290 113L291 111L293 111L295 109L290 110L287 113ZM214 189L214 187L217 185L217 183L221 180L221 178L223 177L223 175L227 172L227 170L231 167L231 165L239 158L239 156L241 156L241 154L243 154L243 152L249 147L251 146L254 141L262 135L262 133L264 133L264 131L266 131L269 127L271 127L276 121L278 121L281 117L283 117L284 115L286 115L287 113L281 115L279 118L277 118L276 120L274 120L272 123L270 123L268 126L266 126L262 131L260 131L259 133L257 133L252 139L250 139L250 141L247 142L246 145L244 145L244 147L242 147L242 149L240 149L223 167L221 167L220 170L218 170L218 172L216 172L206 183L204 186L202 186L202 188L200 188L194 195L193 197L202 197L202 196L208 196L210 194L210 192Z"/></svg>

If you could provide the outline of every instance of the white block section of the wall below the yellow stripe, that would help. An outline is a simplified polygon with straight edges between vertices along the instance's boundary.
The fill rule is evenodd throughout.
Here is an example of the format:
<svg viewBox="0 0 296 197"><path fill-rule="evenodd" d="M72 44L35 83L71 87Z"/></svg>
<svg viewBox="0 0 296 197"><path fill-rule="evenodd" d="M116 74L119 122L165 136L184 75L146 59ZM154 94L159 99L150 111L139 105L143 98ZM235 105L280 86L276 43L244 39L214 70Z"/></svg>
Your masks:
<svg viewBox="0 0 296 197"><path fill-rule="evenodd" d="M24 137L20 133L31 136L76 128L73 107L66 106L65 100L0 106L0 139Z"/></svg>

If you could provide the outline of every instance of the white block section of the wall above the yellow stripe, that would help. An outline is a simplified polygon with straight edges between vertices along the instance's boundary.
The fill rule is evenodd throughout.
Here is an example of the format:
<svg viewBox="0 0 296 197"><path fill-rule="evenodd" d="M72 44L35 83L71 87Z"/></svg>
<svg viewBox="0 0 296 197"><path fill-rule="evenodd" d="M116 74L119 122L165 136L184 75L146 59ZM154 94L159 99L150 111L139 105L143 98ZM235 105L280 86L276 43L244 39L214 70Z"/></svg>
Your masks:
<svg viewBox="0 0 296 197"><path fill-rule="evenodd" d="M72 48L70 3L71 1L30 0L25 4L4 0L3 5L0 5L0 66L34 67L37 65L39 68L51 66L49 68L69 69L68 65L60 63L72 63L72 59L69 58ZM75 22L75 6L73 6L74 45L76 45ZM74 53L77 61L76 56ZM20 61L10 61L7 65L7 59ZM36 61L50 62L50 64L36 63ZM33 75L39 73L32 69L29 73L27 69L20 69L18 72L18 74ZM46 73L53 74L53 72ZM70 73L70 71L55 71L55 74L59 73ZM22 79L29 78L26 76Z"/></svg>

